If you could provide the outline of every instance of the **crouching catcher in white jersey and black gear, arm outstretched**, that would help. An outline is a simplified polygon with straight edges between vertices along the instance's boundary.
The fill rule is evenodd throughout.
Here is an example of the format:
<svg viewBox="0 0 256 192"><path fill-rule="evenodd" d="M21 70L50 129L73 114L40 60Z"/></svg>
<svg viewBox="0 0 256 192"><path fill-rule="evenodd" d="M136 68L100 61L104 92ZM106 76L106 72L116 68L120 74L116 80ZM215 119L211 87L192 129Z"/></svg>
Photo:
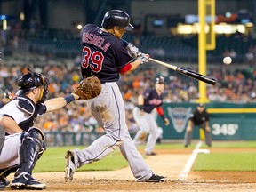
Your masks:
<svg viewBox="0 0 256 192"><path fill-rule="evenodd" d="M78 99L76 94L45 100L48 79L42 74L29 72L19 79L16 97L0 109L0 127L5 140L0 155L0 189L9 185L6 177L15 172L12 189L44 189L46 185L32 177L36 161L45 148L44 133L34 127L37 116L64 107Z"/></svg>

